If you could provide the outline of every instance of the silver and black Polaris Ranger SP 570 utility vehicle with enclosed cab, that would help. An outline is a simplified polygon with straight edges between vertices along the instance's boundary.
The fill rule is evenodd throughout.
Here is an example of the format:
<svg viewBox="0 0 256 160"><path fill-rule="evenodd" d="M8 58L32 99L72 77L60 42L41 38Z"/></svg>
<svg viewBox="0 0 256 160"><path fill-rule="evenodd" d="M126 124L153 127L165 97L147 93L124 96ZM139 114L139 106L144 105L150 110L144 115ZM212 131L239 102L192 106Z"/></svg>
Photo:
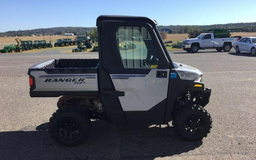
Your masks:
<svg viewBox="0 0 256 160"><path fill-rule="evenodd" d="M54 59L28 70L31 97L60 97L49 131L60 144L86 139L91 119L112 124L167 124L187 140L206 137L211 89L203 73L171 60L147 17L99 16L99 59ZM120 49L118 38L136 45ZM137 41L136 37L141 37Z"/></svg>

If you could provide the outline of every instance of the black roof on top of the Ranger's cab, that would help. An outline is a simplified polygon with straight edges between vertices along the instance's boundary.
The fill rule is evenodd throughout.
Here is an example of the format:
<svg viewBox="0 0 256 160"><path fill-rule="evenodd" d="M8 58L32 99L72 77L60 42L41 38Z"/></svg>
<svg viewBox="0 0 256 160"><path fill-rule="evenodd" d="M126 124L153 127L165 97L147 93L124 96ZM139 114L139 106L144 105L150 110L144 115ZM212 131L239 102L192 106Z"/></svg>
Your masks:
<svg viewBox="0 0 256 160"><path fill-rule="evenodd" d="M148 17L140 17L140 16L115 16L115 15L101 15L97 18L96 26L98 25L99 21L103 20L146 20L151 24L157 25L157 22L153 19Z"/></svg>

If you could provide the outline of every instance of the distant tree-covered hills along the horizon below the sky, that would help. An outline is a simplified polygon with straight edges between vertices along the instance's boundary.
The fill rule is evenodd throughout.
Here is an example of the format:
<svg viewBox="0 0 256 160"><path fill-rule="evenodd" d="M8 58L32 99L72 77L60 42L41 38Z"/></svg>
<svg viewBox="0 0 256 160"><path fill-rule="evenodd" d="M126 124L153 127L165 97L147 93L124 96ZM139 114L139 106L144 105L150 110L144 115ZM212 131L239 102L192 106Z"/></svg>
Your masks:
<svg viewBox="0 0 256 160"><path fill-rule="evenodd" d="M37 35L64 35L64 33L85 33L91 32L96 27L55 27L55 28L39 28L34 30L22 31L6 31L0 33L0 37L14 36L37 36ZM256 22L251 23L231 23L231 24L215 24L215 25L158 25L160 31L163 28L170 28L170 33L201 33L203 29L214 28L243 28L245 32L256 32ZM95 30L94 30L95 31ZM240 30L237 30L240 31Z"/></svg>

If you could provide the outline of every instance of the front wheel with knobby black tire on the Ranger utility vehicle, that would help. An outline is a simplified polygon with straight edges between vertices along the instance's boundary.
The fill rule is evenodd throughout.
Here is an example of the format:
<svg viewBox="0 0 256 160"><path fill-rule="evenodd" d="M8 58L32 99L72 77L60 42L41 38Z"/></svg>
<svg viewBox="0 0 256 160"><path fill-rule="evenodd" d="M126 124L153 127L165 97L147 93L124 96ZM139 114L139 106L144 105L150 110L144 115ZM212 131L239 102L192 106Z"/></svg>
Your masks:
<svg viewBox="0 0 256 160"><path fill-rule="evenodd" d="M201 140L210 133L212 118L200 105L177 111L173 119L176 133L187 140Z"/></svg>

